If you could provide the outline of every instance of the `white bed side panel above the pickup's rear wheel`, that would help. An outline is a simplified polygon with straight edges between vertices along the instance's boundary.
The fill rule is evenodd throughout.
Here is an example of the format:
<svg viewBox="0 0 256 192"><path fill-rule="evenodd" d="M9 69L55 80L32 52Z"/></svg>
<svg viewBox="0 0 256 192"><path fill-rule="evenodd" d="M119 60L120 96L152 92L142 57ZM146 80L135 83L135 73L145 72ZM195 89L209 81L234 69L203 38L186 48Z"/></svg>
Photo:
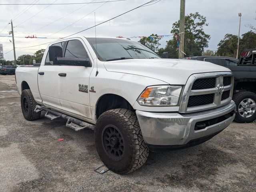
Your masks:
<svg viewBox="0 0 256 192"><path fill-rule="evenodd" d="M22 92L22 83L27 82L36 102L38 104L42 104L42 99L39 94L38 83L37 83L38 69L39 69L38 67L33 67L33 66L18 67L16 69L16 81L17 81L18 92L20 95Z"/></svg>

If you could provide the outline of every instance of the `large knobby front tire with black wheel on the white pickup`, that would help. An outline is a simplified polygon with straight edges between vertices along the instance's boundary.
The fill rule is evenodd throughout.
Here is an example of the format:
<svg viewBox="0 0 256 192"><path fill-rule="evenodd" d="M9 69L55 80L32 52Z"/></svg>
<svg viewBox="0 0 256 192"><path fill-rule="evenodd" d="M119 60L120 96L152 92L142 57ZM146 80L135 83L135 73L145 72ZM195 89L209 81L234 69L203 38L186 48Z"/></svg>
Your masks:
<svg viewBox="0 0 256 192"><path fill-rule="evenodd" d="M104 112L98 118L94 136L100 159L113 172L133 172L148 158L149 150L135 112L127 109Z"/></svg>

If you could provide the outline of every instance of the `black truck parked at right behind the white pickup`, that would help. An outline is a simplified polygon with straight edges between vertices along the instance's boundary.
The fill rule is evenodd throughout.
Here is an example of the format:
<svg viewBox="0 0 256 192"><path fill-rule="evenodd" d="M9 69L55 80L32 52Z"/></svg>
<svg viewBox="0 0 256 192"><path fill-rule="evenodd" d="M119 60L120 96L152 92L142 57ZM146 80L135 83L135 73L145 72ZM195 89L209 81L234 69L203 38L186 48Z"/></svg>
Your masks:
<svg viewBox="0 0 256 192"><path fill-rule="evenodd" d="M235 121L248 123L256 119L256 49L244 50L240 60L221 56L193 56L184 59L207 61L229 68L235 79Z"/></svg>

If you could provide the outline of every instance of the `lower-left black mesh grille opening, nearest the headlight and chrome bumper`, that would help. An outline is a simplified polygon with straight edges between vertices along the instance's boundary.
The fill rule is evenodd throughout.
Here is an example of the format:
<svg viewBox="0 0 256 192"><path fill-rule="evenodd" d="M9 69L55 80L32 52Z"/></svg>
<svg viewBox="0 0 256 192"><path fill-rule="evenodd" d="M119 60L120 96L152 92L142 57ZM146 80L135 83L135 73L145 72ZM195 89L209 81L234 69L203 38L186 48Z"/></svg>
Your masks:
<svg viewBox="0 0 256 192"><path fill-rule="evenodd" d="M190 96L188 107L207 105L213 103L214 94Z"/></svg>

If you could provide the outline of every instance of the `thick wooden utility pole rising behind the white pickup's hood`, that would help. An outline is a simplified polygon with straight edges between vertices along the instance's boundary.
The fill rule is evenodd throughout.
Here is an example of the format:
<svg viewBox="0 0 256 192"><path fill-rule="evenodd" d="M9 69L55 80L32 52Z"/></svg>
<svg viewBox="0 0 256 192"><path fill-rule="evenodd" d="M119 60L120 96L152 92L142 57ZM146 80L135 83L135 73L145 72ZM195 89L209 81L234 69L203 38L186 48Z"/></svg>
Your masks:
<svg viewBox="0 0 256 192"><path fill-rule="evenodd" d="M185 35L185 0L180 0L180 50L184 52L184 35ZM184 54L179 51L179 59L184 57Z"/></svg>

